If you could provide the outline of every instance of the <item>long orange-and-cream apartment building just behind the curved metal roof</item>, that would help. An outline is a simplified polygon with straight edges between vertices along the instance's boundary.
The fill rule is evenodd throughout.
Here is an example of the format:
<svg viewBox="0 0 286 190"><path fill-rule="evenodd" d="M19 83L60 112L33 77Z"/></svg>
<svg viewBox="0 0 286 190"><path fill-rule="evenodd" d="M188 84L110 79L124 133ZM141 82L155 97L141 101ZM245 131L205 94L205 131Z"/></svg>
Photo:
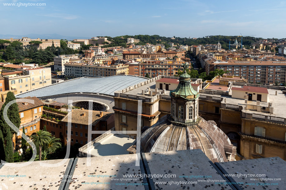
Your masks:
<svg viewBox="0 0 286 190"><path fill-rule="evenodd" d="M164 61L147 61L145 63L129 63L129 74L136 76L145 76L147 73L150 77L159 75L174 76L178 74L182 63L180 58L176 60Z"/></svg>

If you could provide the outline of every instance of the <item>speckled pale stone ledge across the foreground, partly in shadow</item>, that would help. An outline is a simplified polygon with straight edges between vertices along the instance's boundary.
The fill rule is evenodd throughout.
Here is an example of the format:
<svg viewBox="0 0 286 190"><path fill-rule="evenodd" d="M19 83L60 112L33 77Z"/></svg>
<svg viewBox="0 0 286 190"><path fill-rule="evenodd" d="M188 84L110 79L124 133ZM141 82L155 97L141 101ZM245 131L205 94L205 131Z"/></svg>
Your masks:
<svg viewBox="0 0 286 190"><path fill-rule="evenodd" d="M28 190L205 188L282 190L286 185L284 175L286 162L279 157L212 163L200 149L196 149L141 153L139 165L135 166L136 156L137 154L91 157L90 165L87 158L67 159L64 165L58 167L44 167L40 166L40 163L55 164L61 160L35 161L24 167L1 165L2 175L19 176L0 177L0 180L3 189L7 187ZM140 176L138 180L124 177L125 174L137 174L142 178ZM236 177L225 177L225 174L233 174ZM259 178L265 179L251 180L251 177L242 176L248 174L264 174L265 177ZM275 178L277 180L274 180ZM217 181L213 180L222 181L221 184L217 184ZM157 182L166 184L155 184Z"/></svg>

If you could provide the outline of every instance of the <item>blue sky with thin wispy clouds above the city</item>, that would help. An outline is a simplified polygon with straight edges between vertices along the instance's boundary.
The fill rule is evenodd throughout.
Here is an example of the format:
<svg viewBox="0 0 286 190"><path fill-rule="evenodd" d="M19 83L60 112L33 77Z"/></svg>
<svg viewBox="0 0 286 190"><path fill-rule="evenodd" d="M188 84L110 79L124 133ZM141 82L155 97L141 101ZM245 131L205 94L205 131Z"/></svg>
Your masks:
<svg viewBox="0 0 286 190"><path fill-rule="evenodd" d="M4 3L46 3L4 6ZM0 34L286 38L286 1L0 0Z"/></svg>

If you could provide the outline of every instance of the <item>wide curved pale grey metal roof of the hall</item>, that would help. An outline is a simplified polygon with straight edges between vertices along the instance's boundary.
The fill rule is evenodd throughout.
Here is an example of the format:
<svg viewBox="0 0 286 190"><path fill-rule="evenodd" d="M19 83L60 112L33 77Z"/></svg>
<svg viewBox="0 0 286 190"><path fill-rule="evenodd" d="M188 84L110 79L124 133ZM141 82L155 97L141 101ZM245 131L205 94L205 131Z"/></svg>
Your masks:
<svg viewBox="0 0 286 190"><path fill-rule="evenodd" d="M123 90L128 86L147 81L148 78L131 75L116 75L108 77L82 77L61 83L52 84L17 95L17 98L36 96L37 98L70 93L99 93L114 95L114 91Z"/></svg>

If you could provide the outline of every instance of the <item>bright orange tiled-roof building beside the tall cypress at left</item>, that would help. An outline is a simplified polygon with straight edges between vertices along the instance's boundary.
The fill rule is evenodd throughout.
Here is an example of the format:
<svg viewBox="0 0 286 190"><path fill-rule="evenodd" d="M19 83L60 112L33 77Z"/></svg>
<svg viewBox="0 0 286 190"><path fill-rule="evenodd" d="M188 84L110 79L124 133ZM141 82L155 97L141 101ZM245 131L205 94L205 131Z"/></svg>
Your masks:
<svg viewBox="0 0 286 190"><path fill-rule="evenodd" d="M36 97L25 97L20 98L20 100L33 100L34 104L28 103L26 101L17 102L19 108L19 115L21 118L20 131L22 132L23 127L25 134L27 136L34 135L37 131L40 130L40 118L43 111L43 103ZM2 105L1 105L2 106ZM20 132L16 135L13 135L13 149L22 153L21 142L22 137Z"/></svg>

